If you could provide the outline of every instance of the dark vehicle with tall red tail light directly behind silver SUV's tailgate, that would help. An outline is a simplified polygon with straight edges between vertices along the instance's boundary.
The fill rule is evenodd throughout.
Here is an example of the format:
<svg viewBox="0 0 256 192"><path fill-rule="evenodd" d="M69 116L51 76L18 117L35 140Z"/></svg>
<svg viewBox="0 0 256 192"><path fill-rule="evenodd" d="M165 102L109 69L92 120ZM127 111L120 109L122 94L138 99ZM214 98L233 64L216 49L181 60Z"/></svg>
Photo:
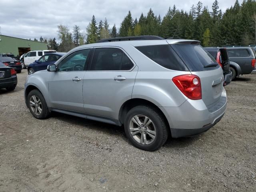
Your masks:
<svg viewBox="0 0 256 192"><path fill-rule="evenodd" d="M219 47L206 47L204 48L208 51L218 62L218 64L222 67L223 75L224 75L224 83L223 85L226 86L230 84L232 80L232 72L230 71L230 63L228 58L228 52L226 48L219 48Z"/></svg>

